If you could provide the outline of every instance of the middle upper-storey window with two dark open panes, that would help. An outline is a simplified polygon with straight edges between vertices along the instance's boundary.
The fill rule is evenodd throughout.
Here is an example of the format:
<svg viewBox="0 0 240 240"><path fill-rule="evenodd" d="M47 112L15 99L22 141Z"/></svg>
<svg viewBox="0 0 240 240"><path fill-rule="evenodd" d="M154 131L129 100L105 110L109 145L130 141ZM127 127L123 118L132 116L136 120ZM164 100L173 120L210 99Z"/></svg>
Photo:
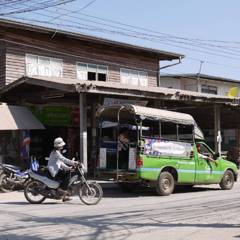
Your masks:
<svg viewBox="0 0 240 240"><path fill-rule="evenodd" d="M90 81L106 81L107 80L107 66L77 63L77 79Z"/></svg>

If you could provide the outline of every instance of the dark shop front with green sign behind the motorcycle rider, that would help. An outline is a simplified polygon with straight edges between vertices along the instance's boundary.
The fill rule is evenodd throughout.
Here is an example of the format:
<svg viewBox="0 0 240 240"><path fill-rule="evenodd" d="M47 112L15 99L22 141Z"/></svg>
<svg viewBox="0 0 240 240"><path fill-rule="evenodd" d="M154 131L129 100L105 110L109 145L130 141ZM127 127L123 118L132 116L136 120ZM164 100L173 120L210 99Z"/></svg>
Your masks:
<svg viewBox="0 0 240 240"><path fill-rule="evenodd" d="M78 106L32 105L28 107L33 115L46 127L31 136L31 153L39 159L49 156L53 141L62 137L66 142L67 155L75 157L79 153L79 108ZM41 160L40 160L41 161ZM42 162L44 164L44 162Z"/></svg>

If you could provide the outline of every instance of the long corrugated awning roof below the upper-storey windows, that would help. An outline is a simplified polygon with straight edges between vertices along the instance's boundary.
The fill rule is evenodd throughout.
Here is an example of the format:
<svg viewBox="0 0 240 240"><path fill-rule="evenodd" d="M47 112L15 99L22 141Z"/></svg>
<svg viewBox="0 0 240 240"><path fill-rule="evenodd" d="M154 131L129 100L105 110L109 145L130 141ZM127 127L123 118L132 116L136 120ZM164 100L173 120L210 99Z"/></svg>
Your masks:
<svg viewBox="0 0 240 240"><path fill-rule="evenodd" d="M78 79L68 78L48 78L48 77L22 77L17 81L4 86L0 94L6 94L11 89L17 88L21 84L32 84L37 86L44 86L48 88L55 88L66 92L89 92L102 94L116 94L126 96L138 96L146 98L158 98L163 96L170 100L188 100L188 101L212 101L219 103L229 103L233 105L240 105L240 98L230 98L227 96L220 96L214 94L193 92L180 89L170 89L163 87L141 87L131 86L115 82L101 82L101 81L81 81Z"/></svg>

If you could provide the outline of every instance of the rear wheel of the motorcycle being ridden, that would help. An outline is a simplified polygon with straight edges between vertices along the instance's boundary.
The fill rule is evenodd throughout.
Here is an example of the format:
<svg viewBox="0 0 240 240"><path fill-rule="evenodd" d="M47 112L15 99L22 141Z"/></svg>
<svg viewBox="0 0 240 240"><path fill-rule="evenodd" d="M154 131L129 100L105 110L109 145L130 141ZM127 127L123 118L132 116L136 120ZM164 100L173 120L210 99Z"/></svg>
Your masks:
<svg viewBox="0 0 240 240"><path fill-rule="evenodd" d="M44 197L40 192L44 184L38 181L30 181L24 189L24 196L28 202L32 204L42 203L46 197Z"/></svg>

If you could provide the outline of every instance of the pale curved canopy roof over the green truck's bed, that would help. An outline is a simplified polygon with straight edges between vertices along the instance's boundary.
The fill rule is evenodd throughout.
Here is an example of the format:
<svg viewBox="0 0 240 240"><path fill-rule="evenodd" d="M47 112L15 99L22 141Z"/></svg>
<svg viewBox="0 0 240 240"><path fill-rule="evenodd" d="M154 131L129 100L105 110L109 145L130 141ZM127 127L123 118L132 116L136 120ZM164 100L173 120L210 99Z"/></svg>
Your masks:
<svg viewBox="0 0 240 240"><path fill-rule="evenodd" d="M127 111L143 118L156 119L164 122L173 122L176 124L193 125L195 138L203 139L202 131L197 126L194 118L186 113L167 111L157 108L142 107L132 104L103 106L97 111L97 116L115 118L119 111Z"/></svg>

